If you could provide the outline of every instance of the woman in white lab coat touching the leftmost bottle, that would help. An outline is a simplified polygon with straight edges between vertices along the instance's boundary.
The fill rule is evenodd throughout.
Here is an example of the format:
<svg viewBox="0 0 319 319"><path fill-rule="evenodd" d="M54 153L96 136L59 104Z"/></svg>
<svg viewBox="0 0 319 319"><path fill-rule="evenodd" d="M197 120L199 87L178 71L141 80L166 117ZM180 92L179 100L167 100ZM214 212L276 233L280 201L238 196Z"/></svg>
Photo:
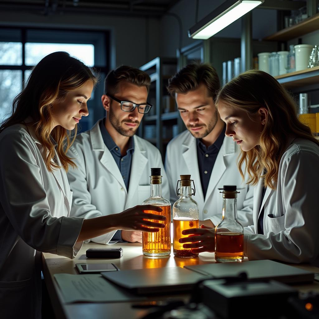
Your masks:
<svg viewBox="0 0 319 319"><path fill-rule="evenodd" d="M88 115L97 79L66 52L44 57L12 115L0 126L1 318L41 318L41 251L73 258L83 241L116 229L153 231L164 216L136 206L93 219L69 217L72 192L65 154L77 123ZM143 226L144 225L144 226ZM158 229L157 229L158 230Z"/></svg>

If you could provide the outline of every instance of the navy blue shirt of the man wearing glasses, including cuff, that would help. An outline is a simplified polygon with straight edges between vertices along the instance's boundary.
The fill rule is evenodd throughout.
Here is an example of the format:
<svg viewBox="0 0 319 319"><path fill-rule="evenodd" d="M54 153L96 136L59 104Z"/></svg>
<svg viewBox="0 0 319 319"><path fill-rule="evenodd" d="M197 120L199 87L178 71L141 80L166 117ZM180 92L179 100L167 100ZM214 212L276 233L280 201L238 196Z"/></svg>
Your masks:
<svg viewBox="0 0 319 319"><path fill-rule="evenodd" d="M100 122L100 130L101 130L104 144L106 145L108 150L111 152L117 164L117 167L119 168L122 174L126 189L129 190L132 155L134 153L134 139L133 137L130 137L126 155L122 156L121 149L113 141L112 137L110 136L107 129L105 128L104 123L105 123L105 118ZM118 230L112 237L112 241L119 241L119 240L122 241L121 230Z"/></svg>

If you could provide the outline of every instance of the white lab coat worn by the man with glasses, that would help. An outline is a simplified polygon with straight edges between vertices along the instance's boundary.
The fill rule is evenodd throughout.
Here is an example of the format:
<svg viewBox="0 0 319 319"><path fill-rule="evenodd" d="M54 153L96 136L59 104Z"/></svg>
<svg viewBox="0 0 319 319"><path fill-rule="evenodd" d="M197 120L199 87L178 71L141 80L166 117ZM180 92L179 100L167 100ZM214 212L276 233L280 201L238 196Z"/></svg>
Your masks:
<svg viewBox="0 0 319 319"><path fill-rule="evenodd" d="M68 179L73 191L71 216L93 218L119 213L140 205L151 196L151 167L160 167L162 195L169 199L169 187L159 150L134 135L130 185L127 191L122 174L106 147L98 121L91 130L79 134L68 151L77 168L69 169ZM111 241L115 231L93 238L100 244Z"/></svg>

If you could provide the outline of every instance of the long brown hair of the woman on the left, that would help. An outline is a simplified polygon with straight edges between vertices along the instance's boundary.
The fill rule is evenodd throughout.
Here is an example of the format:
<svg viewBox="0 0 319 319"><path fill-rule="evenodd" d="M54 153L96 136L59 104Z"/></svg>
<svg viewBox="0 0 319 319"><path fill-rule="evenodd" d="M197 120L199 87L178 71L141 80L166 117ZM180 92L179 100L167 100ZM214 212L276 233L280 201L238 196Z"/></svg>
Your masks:
<svg viewBox="0 0 319 319"><path fill-rule="evenodd" d="M77 90L86 81L93 85L97 78L92 70L78 59L66 52L54 52L45 56L32 70L26 87L19 93L12 104L12 115L1 123L0 133L14 124L34 126L35 133L43 147L47 150L46 166L61 168L52 161L56 152L62 167L67 171L68 166L75 167L73 161L66 155L77 133L77 125L72 131L56 126L52 131L52 105L62 102L69 91ZM31 122L25 123L30 117Z"/></svg>

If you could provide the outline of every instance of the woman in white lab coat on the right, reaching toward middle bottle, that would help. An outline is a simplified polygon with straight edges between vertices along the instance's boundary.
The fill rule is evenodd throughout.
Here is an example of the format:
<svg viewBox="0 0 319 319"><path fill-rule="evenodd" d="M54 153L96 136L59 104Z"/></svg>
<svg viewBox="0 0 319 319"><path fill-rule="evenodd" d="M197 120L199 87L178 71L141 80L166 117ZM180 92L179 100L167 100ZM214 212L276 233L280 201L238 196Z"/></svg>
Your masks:
<svg viewBox="0 0 319 319"><path fill-rule="evenodd" d="M226 136L241 146L254 191L254 225L244 227L250 260L317 262L319 257L319 141L301 123L296 105L269 74L250 70L227 83L216 106ZM214 229L200 228L180 239L194 252L214 251ZM200 240L200 242L198 242Z"/></svg>

